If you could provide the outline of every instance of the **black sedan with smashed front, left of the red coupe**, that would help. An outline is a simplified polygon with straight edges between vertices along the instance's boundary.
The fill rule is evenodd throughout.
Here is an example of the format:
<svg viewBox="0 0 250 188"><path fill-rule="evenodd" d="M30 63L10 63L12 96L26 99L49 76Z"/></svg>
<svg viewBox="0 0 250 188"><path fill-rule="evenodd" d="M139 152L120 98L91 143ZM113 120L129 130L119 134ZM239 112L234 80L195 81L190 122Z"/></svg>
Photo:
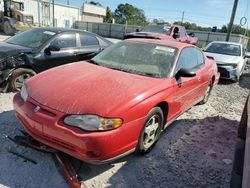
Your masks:
<svg viewBox="0 0 250 188"><path fill-rule="evenodd" d="M112 43L75 29L35 28L0 42L0 91L18 91L49 68L88 60Z"/></svg>

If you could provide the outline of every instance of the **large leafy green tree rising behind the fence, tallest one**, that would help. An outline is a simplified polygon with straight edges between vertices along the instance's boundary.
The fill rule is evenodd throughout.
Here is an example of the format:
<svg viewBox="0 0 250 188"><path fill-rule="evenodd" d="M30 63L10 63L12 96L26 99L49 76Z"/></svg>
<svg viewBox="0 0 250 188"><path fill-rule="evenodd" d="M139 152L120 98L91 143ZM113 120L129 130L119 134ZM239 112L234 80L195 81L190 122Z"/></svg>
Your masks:
<svg viewBox="0 0 250 188"><path fill-rule="evenodd" d="M114 12L116 23L128 25L146 25L147 20L142 9L128 3L119 4Z"/></svg>

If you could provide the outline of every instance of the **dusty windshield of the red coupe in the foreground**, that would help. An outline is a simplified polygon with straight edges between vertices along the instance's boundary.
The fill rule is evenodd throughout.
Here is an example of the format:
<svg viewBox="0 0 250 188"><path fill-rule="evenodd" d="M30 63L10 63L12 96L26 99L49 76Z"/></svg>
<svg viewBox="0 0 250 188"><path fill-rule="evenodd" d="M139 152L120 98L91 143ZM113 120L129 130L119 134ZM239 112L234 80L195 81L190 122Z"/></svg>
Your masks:
<svg viewBox="0 0 250 188"><path fill-rule="evenodd" d="M168 77L177 49L158 44L123 41L107 48L92 59L93 63L149 77Z"/></svg>

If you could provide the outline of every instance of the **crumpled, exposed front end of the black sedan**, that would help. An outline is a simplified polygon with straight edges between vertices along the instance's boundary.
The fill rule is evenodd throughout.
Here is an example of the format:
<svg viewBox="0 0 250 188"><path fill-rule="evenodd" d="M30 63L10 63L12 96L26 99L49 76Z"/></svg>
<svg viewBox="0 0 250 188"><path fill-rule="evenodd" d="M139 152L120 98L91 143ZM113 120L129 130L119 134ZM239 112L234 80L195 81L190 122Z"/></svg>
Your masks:
<svg viewBox="0 0 250 188"><path fill-rule="evenodd" d="M8 80L17 67L26 65L26 55L20 53L15 56L7 56L0 53L0 92L7 92Z"/></svg>

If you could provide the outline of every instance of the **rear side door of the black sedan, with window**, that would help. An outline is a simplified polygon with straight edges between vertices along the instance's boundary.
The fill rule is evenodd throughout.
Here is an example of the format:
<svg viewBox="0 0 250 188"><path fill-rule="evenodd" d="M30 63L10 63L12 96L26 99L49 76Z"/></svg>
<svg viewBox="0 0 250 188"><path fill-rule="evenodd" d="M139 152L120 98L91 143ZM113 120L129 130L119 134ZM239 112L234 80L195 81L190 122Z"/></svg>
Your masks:
<svg viewBox="0 0 250 188"><path fill-rule="evenodd" d="M88 60L104 49L95 35L89 33L79 33L80 47L77 52L77 59Z"/></svg>

